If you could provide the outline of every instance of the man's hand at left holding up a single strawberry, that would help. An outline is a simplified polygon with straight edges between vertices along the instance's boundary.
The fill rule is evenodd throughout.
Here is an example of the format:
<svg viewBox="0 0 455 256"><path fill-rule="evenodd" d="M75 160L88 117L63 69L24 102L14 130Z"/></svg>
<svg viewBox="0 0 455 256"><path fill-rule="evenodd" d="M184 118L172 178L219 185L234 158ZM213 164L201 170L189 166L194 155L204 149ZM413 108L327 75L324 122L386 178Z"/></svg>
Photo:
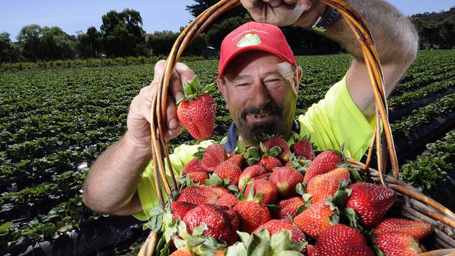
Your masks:
<svg viewBox="0 0 455 256"><path fill-rule="evenodd" d="M128 132L132 142L144 148L151 150L151 106L155 90L158 88L158 80L165 69L165 60L160 60L155 64L155 77L151 85L141 89L141 92L134 97L131 105L130 112L127 118ZM172 73L172 78L169 82L169 91L167 97L167 111L166 111L166 125L165 130L166 140L169 141L176 136L179 136L183 130L183 125L177 118L176 102L183 98L183 82L192 80L195 76L186 64L177 63Z"/></svg>

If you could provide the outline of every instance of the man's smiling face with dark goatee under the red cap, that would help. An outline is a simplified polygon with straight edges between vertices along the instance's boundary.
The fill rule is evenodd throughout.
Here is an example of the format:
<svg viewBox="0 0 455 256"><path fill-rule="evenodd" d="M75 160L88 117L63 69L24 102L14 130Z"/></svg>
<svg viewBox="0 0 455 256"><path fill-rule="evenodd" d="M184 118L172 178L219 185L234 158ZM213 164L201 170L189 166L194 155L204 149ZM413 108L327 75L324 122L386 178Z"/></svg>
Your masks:
<svg viewBox="0 0 455 256"><path fill-rule="evenodd" d="M247 52L230 62L218 88L247 145L258 145L263 133L289 138L301 75L268 52Z"/></svg>

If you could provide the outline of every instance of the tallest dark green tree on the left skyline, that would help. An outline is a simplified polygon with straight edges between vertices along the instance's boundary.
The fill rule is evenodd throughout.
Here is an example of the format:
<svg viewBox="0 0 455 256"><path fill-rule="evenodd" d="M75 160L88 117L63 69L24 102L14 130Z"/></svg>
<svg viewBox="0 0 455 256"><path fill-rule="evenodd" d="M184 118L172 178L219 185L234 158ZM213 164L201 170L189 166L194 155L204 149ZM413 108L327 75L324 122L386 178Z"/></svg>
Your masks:
<svg viewBox="0 0 455 256"><path fill-rule="evenodd" d="M146 32L138 11L125 9L121 13L109 11L102 17L101 31L104 48L109 56L139 55L144 52Z"/></svg>

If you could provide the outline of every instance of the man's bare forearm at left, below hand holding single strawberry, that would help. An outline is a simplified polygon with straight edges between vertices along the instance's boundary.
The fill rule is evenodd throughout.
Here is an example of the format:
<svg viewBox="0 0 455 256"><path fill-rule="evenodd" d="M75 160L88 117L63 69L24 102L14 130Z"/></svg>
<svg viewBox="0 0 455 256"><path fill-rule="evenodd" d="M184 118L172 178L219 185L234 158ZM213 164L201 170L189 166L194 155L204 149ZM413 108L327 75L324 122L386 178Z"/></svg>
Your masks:
<svg viewBox="0 0 455 256"><path fill-rule="evenodd" d="M106 150L93 166L84 184L84 202L102 213L122 213L130 207L141 171L151 159L151 152L138 148L125 136Z"/></svg>

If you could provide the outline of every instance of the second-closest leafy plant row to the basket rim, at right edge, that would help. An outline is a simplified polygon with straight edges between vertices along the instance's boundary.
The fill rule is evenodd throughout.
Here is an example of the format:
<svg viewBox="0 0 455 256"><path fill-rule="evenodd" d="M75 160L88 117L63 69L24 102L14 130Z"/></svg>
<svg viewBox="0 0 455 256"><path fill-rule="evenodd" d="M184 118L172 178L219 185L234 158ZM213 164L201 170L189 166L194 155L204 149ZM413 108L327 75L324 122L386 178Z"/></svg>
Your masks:
<svg viewBox="0 0 455 256"><path fill-rule="evenodd" d="M449 94L423 108L412 111L412 115L407 115L391 124L392 132L395 136L403 136L411 131L420 129L435 118L442 117L455 111L455 94Z"/></svg>

